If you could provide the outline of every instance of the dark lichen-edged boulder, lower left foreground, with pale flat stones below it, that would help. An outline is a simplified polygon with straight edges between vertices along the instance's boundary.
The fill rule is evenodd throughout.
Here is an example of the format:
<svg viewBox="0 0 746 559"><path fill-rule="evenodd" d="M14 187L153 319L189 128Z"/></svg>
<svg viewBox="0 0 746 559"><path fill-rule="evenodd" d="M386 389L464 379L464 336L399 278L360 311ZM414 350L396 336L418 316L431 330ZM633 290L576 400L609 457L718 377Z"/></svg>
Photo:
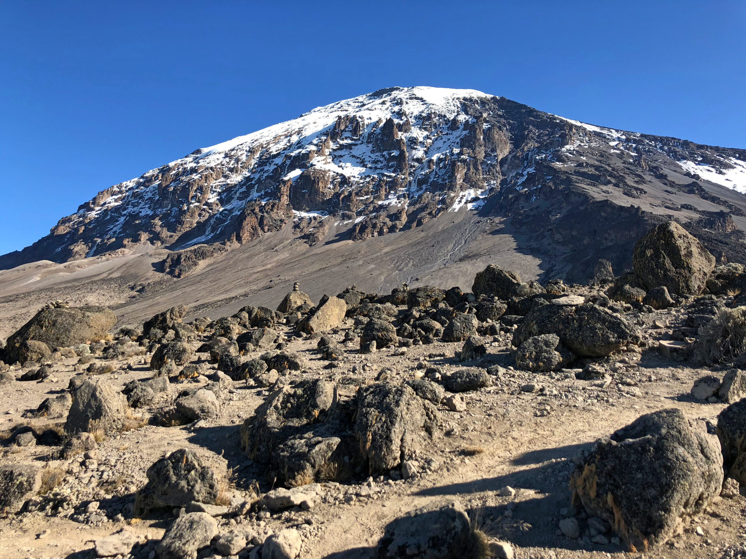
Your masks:
<svg viewBox="0 0 746 559"><path fill-rule="evenodd" d="M146 472L148 483L135 496L138 514L156 508L181 508L192 501L214 505L219 480L192 450L178 449L160 458Z"/></svg>

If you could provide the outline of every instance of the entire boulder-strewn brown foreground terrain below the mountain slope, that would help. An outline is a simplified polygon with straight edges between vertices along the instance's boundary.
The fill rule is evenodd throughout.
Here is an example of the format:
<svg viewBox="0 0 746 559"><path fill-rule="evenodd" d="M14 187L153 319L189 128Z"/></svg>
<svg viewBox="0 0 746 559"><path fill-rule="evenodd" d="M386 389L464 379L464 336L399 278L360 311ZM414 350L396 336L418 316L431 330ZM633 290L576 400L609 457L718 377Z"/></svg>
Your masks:
<svg viewBox="0 0 746 559"><path fill-rule="evenodd" d="M278 311L85 341L104 309L36 305L1 367L0 557L742 557L745 270L644 233L583 284L298 277Z"/></svg>

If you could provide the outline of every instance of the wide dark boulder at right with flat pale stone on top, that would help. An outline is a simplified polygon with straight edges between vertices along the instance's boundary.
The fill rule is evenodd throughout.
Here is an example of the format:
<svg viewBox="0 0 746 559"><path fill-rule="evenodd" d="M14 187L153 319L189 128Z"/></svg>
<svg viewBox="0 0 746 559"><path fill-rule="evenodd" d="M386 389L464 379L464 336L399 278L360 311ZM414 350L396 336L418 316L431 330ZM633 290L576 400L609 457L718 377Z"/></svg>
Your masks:
<svg viewBox="0 0 746 559"><path fill-rule="evenodd" d="M542 334L556 334L564 347L584 357L608 356L638 336L632 323L592 303L536 307L515 330L513 345Z"/></svg>

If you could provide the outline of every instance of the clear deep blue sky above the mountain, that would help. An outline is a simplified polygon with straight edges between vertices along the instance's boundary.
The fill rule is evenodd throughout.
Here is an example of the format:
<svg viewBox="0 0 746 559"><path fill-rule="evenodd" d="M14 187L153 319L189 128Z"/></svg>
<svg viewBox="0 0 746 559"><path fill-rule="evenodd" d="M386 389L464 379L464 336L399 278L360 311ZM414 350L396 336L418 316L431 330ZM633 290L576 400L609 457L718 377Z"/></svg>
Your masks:
<svg viewBox="0 0 746 559"><path fill-rule="evenodd" d="M196 148L414 85L746 148L746 2L0 1L0 254Z"/></svg>

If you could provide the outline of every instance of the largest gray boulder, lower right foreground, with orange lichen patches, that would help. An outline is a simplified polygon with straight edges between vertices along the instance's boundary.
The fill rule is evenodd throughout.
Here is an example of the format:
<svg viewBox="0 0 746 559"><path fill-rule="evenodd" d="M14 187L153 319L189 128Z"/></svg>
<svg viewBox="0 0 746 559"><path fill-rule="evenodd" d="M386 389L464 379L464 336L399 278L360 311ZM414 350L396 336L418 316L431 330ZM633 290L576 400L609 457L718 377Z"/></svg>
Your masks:
<svg viewBox="0 0 746 559"><path fill-rule="evenodd" d="M668 408L597 440L571 476L574 502L609 522L630 550L665 543L723 483L718 440L697 423Z"/></svg>

